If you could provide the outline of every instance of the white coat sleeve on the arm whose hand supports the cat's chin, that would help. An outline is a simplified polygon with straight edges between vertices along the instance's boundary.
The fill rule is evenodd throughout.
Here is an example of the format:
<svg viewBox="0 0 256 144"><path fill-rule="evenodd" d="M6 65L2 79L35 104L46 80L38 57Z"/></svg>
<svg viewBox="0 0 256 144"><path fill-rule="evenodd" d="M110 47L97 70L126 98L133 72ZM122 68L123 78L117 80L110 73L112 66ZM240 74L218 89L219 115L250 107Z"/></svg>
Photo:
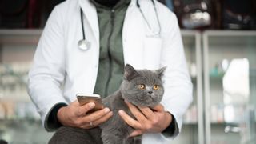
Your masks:
<svg viewBox="0 0 256 144"><path fill-rule="evenodd" d="M164 24L162 34L161 66L167 66L163 80L165 94L162 104L174 115L178 123L178 130L182 129L182 115L192 102L192 83L186 66L186 58L182 45L178 20L170 12L169 20ZM174 134L175 137L177 134Z"/></svg>

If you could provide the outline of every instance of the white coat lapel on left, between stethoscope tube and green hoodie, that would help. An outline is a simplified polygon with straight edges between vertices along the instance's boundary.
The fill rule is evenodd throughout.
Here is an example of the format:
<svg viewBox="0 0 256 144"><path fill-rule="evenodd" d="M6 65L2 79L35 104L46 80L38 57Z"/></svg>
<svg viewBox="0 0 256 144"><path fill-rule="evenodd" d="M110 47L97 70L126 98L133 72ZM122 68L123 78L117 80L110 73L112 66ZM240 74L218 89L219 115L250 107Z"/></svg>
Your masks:
<svg viewBox="0 0 256 144"><path fill-rule="evenodd" d="M82 8L83 14L85 15L85 25L86 22L89 23L96 42L99 44L98 16L94 4L92 4L90 0L79 0L79 5Z"/></svg>

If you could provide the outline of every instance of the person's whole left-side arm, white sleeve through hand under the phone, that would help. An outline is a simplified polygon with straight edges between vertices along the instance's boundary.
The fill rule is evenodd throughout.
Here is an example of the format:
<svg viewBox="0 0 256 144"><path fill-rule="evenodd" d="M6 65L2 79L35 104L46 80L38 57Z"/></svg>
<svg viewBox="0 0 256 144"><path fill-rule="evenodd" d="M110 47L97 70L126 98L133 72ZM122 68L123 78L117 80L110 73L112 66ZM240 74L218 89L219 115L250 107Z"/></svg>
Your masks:
<svg viewBox="0 0 256 144"><path fill-rule="evenodd" d="M29 74L30 98L47 131L56 130L62 125L90 129L113 115L109 108L88 114L94 108L94 103L80 106L78 101L74 101L67 104L63 98L60 87L66 76L65 13L63 6L58 5L50 14Z"/></svg>

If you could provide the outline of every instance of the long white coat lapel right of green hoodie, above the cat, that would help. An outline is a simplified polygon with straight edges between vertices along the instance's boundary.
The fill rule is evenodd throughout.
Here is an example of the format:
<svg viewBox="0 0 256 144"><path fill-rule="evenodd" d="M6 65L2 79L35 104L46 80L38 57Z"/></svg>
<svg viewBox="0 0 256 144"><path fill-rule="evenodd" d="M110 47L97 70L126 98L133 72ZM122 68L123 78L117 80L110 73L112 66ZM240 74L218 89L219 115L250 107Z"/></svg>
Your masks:
<svg viewBox="0 0 256 144"><path fill-rule="evenodd" d="M141 15L134 0L126 12L122 29L122 43L125 63L130 63L137 69L143 68L143 38L144 27Z"/></svg>

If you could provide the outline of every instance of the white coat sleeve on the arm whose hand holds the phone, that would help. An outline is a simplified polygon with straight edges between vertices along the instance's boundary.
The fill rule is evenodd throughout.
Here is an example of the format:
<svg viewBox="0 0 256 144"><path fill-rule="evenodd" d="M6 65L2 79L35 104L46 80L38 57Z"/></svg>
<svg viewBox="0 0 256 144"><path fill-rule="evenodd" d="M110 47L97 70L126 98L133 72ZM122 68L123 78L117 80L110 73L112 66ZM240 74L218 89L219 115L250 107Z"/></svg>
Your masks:
<svg viewBox="0 0 256 144"><path fill-rule="evenodd" d="M48 113L57 103L66 103L61 85L65 76L65 41L62 13L56 6L42 32L34 65L29 72L28 93L46 126Z"/></svg>

